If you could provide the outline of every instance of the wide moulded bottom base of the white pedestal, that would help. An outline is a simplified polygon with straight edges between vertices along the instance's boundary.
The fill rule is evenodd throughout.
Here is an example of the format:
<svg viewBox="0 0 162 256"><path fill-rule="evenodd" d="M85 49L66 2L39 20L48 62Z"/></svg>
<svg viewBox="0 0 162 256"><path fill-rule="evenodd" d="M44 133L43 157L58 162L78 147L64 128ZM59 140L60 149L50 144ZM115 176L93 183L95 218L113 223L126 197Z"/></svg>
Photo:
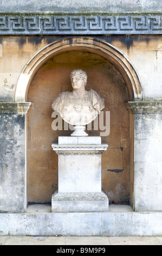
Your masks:
<svg viewBox="0 0 162 256"><path fill-rule="evenodd" d="M105 193L53 193L51 212L107 212Z"/></svg>

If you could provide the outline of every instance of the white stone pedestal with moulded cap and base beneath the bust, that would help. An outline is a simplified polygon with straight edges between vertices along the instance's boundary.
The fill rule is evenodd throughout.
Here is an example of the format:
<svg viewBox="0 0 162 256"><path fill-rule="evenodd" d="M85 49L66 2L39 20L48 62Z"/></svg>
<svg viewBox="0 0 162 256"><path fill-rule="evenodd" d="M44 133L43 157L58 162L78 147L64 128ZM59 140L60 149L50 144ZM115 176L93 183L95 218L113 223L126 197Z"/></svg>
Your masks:
<svg viewBox="0 0 162 256"><path fill-rule="evenodd" d="M59 137L52 147L59 155L59 188L51 211L108 211L108 198L101 191L101 155L108 145L101 144L101 137Z"/></svg>

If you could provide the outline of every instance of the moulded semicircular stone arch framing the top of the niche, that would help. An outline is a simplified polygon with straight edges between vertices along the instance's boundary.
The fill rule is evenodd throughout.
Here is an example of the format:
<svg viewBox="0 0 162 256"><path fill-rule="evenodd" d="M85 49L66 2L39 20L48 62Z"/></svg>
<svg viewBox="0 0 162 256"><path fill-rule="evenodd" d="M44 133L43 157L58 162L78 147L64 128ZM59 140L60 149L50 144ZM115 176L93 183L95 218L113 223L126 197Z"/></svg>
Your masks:
<svg viewBox="0 0 162 256"><path fill-rule="evenodd" d="M124 53L111 44L99 39L73 37L51 42L50 44L41 48L41 50L29 60L18 79L15 92L15 101L27 101L30 82L36 74L36 71L44 63L46 63L48 59L56 54L72 50L89 51L108 59L119 70L124 78L128 88L129 100L135 101L143 99L140 78L133 64Z"/></svg>

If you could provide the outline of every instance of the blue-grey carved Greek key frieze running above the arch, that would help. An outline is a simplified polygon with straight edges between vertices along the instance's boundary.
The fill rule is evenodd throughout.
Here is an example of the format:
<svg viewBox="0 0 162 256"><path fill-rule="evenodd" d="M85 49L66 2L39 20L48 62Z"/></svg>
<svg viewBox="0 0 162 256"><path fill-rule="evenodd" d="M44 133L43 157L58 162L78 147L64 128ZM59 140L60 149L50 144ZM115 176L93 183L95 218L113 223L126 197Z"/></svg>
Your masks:
<svg viewBox="0 0 162 256"><path fill-rule="evenodd" d="M0 13L1 35L162 34L159 13Z"/></svg>

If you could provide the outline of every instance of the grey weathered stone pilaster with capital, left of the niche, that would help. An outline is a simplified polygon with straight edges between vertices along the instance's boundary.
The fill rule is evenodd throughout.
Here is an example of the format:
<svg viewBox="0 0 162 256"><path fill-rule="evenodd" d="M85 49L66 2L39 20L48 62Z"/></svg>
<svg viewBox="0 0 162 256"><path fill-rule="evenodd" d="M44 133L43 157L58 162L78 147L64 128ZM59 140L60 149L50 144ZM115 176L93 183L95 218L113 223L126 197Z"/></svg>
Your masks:
<svg viewBox="0 0 162 256"><path fill-rule="evenodd" d="M0 212L27 207L26 114L30 102L0 102Z"/></svg>

